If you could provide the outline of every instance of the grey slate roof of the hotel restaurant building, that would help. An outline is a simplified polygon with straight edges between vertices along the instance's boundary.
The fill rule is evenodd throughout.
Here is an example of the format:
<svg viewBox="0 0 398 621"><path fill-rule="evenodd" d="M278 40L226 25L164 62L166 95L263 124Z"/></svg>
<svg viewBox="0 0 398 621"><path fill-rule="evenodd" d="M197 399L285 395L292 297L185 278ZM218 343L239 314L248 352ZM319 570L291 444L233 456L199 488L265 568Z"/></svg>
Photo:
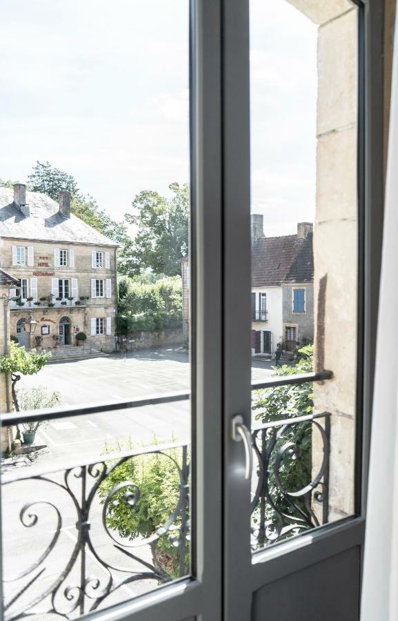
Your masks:
<svg viewBox="0 0 398 621"><path fill-rule="evenodd" d="M59 214L59 205L40 192L27 192L30 216L14 204L14 190L0 188L0 237L39 239L43 242L74 242L96 246L117 246L111 239L71 214Z"/></svg>

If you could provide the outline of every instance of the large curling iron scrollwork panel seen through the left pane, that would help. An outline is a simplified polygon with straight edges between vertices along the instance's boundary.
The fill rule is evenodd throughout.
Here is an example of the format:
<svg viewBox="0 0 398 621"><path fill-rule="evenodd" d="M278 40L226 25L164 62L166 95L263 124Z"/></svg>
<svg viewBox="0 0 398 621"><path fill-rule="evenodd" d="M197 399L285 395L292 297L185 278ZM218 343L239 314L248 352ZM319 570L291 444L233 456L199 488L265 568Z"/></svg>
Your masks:
<svg viewBox="0 0 398 621"><path fill-rule="evenodd" d="M177 460L170 451L179 451ZM122 455L122 456L121 456ZM170 460L176 469L179 480L179 493L175 509L168 520L148 538L132 541L119 541L115 533L108 526L108 508L115 501L116 495L122 494L123 502L131 511L135 511L141 501L141 490L133 480L126 480L114 486L102 500L102 512L94 513L92 507L99 500L99 489L115 470L128 460L143 455L161 455ZM60 478L61 473L63 475ZM64 471L48 474L37 474L31 477L18 479L4 477L3 486L17 484L19 481L42 482L55 486L68 497L74 514L76 515L74 546L69 558L63 563L63 569L51 580L43 580L48 569L49 557L52 552L57 553L57 542L66 524L63 524L63 515L50 497L38 498L23 504L19 513L19 521L27 529L33 529L39 524L38 507L46 508L47 515L54 512L56 517L55 528L50 543L39 555L39 558L26 569L15 575L3 578L7 591L7 584L14 586L12 593L3 603L3 618L7 621L16 621L22 618L41 619L42 615L54 614L57 618L70 619L98 609L101 603L112 593L119 591L123 586L142 580L155 580L163 584L172 580L172 576L153 562L141 558L137 549L143 546L156 544L166 535L172 539L177 548L179 557L179 575L186 575L188 565L189 542L189 463L188 444L168 444L148 447L146 451L130 451L128 454L110 455L91 464L74 466ZM56 480L57 477L59 480ZM77 489L76 489L77 488ZM3 507L4 511L4 507ZM106 538L113 549L119 551L123 558L134 562L135 567L117 566L101 555L101 546L94 544L91 530L92 520L102 520ZM145 554L143 555L145 557ZM88 574L88 561L101 567L101 576ZM137 570L139 564L139 570ZM73 570L73 571L72 571ZM77 578L77 574L79 578ZM122 575L122 578L120 578ZM124 577L123 577L124 576ZM42 580L40 580L42 579ZM68 580L70 584L68 584ZM46 586L42 586L46 584ZM40 585L40 586L39 586Z"/></svg>

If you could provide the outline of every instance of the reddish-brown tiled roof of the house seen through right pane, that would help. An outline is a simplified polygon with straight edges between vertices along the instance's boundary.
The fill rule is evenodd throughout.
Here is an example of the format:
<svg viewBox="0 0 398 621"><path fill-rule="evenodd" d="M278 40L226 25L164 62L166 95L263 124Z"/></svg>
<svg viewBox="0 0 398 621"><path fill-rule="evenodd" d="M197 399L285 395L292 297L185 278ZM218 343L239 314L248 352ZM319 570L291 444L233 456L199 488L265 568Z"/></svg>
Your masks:
<svg viewBox="0 0 398 621"><path fill-rule="evenodd" d="M252 286L279 286L282 282L313 282L312 233L259 237L252 246Z"/></svg>

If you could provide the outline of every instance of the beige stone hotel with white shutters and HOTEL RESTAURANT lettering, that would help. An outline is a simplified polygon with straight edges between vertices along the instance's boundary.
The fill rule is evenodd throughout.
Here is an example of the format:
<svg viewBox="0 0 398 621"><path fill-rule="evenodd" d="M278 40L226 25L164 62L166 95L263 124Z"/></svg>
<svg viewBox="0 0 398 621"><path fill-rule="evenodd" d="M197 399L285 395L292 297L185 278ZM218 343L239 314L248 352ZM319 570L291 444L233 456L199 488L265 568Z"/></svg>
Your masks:
<svg viewBox="0 0 398 621"><path fill-rule="evenodd" d="M68 192L57 204L23 184L0 188L0 267L18 281L11 335L26 348L41 337L41 347L67 352L83 332L86 348L114 351L116 253L115 242L70 213ZM23 329L30 315L33 335Z"/></svg>

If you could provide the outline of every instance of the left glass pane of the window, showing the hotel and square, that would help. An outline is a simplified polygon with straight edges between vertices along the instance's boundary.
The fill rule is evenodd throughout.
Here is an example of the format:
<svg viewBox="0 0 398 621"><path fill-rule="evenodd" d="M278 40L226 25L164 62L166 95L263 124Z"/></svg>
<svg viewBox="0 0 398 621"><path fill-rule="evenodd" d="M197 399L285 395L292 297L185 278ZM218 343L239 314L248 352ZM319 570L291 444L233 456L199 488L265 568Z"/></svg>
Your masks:
<svg viewBox="0 0 398 621"><path fill-rule="evenodd" d="M75 619L190 573L189 4L0 3L10 618Z"/></svg>

